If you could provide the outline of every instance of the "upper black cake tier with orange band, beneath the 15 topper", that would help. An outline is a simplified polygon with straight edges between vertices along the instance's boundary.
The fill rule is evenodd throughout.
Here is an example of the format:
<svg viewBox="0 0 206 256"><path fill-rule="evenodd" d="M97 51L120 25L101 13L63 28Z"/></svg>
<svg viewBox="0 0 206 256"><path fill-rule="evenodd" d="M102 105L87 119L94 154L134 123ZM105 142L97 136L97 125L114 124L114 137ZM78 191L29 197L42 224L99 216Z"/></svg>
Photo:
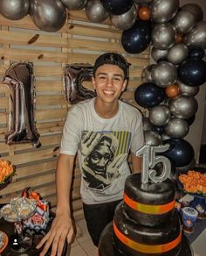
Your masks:
<svg viewBox="0 0 206 256"><path fill-rule="evenodd" d="M130 174L125 182L124 208L127 215L143 225L167 223L175 208L174 181L141 183L141 174Z"/></svg>

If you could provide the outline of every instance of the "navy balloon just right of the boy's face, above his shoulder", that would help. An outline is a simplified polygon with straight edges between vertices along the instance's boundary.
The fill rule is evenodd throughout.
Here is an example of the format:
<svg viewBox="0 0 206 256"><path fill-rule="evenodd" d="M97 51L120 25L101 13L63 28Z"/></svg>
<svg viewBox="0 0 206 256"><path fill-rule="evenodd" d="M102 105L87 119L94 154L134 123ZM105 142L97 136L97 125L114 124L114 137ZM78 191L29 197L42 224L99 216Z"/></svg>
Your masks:
<svg viewBox="0 0 206 256"><path fill-rule="evenodd" d="M163 101L165 98L164 89L156 86L153 82L144 82L135 89L134 99L143 108L151 108Z"/></svg>

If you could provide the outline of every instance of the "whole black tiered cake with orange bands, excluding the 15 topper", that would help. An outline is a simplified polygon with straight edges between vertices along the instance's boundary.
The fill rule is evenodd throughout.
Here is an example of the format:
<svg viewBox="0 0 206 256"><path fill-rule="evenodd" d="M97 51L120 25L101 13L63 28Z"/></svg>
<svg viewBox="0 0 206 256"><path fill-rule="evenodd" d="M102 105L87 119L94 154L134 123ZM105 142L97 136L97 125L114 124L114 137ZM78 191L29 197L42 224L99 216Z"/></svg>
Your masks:
<svg viewBox="0 0 206 256"><path fill-rule="evenodd" d="M113 223L101 234L99 255L182 256L190 253L189 245L182 243L174 181L165 176L162 181L142 182L141 174L130 174Z"/></svg>

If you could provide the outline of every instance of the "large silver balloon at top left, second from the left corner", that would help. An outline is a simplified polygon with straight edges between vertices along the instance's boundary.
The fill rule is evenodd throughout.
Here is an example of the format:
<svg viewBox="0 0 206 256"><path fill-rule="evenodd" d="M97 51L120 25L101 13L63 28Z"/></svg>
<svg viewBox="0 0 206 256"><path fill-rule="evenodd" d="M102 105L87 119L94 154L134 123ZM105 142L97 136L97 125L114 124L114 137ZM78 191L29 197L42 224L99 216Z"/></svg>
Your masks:
<svg viewBox="0 0 206 256"><path fill-rule="evenodd" d="M30 13L40 30L57 32L65 25L66 9L59 0L31 1Z"/></svg>

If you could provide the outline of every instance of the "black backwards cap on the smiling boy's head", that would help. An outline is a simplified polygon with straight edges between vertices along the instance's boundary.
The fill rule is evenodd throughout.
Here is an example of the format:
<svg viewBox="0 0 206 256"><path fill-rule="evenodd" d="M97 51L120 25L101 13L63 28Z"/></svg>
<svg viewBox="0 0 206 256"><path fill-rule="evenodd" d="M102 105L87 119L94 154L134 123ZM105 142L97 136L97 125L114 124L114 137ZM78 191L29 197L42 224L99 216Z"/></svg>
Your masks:
<svg viewBox="0 0 206 256"><path fill-rule="evenodd" d="M125 79L128 78L128 68L130 64L127 63L127 60L119 53L104 53L100 55L94 63L93 75L95 75L97 68L104 64L112 64L118 66L120 69L123 70Z"/></svg>

